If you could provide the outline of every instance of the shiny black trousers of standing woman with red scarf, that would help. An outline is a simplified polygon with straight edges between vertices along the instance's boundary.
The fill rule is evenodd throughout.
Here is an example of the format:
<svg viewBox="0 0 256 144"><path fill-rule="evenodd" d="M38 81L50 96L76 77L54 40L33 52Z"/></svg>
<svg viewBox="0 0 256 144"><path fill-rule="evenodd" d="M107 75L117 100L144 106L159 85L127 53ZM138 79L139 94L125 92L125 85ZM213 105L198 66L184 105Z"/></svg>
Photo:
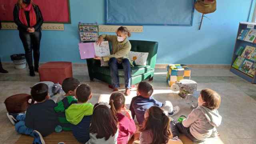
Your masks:
<svg viewBox="0 0 256 144"><path fill-rule="evenodd" d="M19 31L20 40L24 46L26 60L28 62L28 66L33 66L33 57L34 57L34 66L38 68L39 59L40 59L40 41L42 37L41 32L24 32ZM33 51L33 57L32 57Z"/></svg>

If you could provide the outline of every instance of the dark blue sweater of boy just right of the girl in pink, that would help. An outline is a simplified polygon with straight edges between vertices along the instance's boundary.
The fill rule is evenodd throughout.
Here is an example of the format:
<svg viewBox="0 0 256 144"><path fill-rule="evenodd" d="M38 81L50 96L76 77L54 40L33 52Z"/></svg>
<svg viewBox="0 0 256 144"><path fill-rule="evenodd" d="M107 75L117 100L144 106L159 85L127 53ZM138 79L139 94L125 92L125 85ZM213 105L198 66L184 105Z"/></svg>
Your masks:
<svg viewBox="0 0 256 144"><path fill-rule="evenodd" d="M130 111L132 112L132 118L134 119L136 116L138 123L142 124L142 122L144 121L144 114L146 110L149 109L151 106L162 107L163 103L158 102L152 96L150 98L135 96L134 98L132 98L132 102L130 104Z"/></svg>

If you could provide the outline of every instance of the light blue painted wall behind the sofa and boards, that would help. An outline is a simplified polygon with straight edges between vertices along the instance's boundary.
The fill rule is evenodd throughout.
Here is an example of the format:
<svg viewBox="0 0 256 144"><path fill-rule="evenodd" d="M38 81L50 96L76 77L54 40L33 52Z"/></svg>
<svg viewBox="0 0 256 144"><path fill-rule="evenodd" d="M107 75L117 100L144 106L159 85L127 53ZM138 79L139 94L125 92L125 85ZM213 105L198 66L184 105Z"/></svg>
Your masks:
<svg viewBox="0 0 256 144"><path fill-rule="evenodd" d="M157 64L230 64L239 22L250 18L254 0L218 0L217 10L207 14L198 30L201 14L195 10L193 26L144 26L131 40L159 42ZM254 4L254 2L253 2ZM254 5L252 5L254 8ZM42 31L41 62L80 60L78 22L104 24L104 0L70 0L72 24L64 31ZM166 14L168 16L168 14ZM112 33L114 34L114 33ZM0 55L24 53L17 30L0 30Z"/></svg>

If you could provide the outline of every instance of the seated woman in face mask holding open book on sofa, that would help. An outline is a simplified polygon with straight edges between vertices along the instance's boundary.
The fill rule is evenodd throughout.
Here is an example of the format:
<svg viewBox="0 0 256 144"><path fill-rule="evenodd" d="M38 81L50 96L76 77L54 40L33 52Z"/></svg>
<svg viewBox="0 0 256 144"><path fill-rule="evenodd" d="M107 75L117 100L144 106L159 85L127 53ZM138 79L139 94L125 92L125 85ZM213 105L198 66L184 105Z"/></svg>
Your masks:
<svg viewBox="0 0 256 144"><path fill-rule="evenodd" d="M109 61L110 74L112 78L112 85L114 91L118 91L120 87L119 77L118 77L118 68L124 68L124 81L125 81L125 95L130 95L131 88L131 66L132 62L129 60L129 52L132 48L128 37L131 36L130 31L124 27L120 26L116 30L116 35L107 35L102 34L99 36L97 44L101 44L103 40L108 40L112 42L112 52L109 56L99 57L96 56L94 59Z"/></svg>

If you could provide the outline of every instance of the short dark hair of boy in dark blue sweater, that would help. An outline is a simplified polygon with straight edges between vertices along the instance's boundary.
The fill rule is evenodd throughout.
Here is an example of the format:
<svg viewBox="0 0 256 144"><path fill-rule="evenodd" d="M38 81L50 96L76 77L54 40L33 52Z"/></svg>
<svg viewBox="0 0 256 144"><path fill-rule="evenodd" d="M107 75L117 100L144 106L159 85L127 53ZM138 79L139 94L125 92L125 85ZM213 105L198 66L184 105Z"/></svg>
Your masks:
<svg viewBox="0 0 256 144"><path fill-rule="evenodd" d="M140 82L137 90L143 97L150 97L154 92L153 86L147 82Z"/></svg>

